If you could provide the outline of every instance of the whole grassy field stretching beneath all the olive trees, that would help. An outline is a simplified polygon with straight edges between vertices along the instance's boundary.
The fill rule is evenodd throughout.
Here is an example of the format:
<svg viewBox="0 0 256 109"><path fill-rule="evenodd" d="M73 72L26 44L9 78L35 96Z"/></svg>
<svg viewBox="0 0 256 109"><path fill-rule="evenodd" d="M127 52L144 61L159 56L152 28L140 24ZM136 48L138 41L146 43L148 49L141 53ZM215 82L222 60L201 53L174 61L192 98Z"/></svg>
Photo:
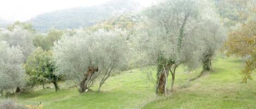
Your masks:
<svg viewBox="0 0 256 109"><path fill-rule="evenodd" d="M256 108L256 78L241 84L242 61L218 59L213 70L193 82L188 79L199 74L177 70L175 93L156 97L152 84L145 82L140 69L132 69L111 76L97 91L79 94L76 88L39 89L2 99L14 99L21 104L39 104L44 108ZM256 77L254 73L254 77ZM61 84L64 87L65 84Z"/></svg>

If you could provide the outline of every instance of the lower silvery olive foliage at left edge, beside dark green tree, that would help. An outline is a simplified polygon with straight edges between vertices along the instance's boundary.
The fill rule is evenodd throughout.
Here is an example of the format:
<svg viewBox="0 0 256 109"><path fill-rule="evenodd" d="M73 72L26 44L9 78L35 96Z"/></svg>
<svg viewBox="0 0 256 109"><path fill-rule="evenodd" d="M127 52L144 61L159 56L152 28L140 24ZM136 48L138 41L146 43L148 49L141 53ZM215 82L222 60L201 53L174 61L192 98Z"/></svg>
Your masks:
<svg viewBox="0 0 256 109"><path fill-rule="evenodd" d="M25 71L22 69L23 54L19 47L10 47L0 41L0 89L14 89L22 86Z"/></svg>

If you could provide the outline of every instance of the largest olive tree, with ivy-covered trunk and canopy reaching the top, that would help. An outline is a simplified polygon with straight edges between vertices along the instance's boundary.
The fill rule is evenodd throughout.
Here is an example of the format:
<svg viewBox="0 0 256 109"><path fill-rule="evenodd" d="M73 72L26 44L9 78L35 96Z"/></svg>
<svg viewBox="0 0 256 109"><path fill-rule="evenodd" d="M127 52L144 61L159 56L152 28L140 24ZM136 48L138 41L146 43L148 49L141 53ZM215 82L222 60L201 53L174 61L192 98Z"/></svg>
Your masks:
<svg viewBox="0 0 256 109"><path fill-rule="evenodd" d="M176 68L197 68L204 46L201 26L211 21L211 6L206 1L166 0L141 14L138 28L138 50L147 63L157 66L157 94L166 94L168 75L173 91ZM210 24L204 26L211 26Z"/></svg>

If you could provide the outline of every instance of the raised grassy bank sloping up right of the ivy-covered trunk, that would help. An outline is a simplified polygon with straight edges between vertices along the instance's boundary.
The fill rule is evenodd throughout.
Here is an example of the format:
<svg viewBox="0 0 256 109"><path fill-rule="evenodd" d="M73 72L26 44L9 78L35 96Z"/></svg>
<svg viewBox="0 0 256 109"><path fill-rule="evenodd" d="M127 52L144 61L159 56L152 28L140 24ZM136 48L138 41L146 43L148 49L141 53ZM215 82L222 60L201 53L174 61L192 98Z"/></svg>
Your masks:
<svg viewBox="0 0 256 109"><path fill-rule="evenodd" d="M241 63L236 59L219 59L213 71L191 82L190 87L176 88L176 93L143 108L256 108L256 75L254 80L241 84Z"/></svg>

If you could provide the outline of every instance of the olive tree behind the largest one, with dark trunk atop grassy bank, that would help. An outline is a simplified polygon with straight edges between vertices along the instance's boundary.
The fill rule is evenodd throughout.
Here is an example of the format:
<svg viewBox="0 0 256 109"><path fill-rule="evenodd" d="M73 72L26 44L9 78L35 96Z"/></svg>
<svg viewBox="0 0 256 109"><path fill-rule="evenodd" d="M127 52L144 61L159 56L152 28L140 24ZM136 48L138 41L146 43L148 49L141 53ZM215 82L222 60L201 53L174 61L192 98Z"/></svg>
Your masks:
<svg viewBox="0 0 256 109"><path fill-rule="evenodd" d="M210 70L213 58L227 39L227 30L222 25L215 9L207 10L203 17L206 18L203 19L199 27L199 30L203 31L203 33L200 33L199 39L201 41L199 61L203 70L190 81L198 79L204 72Z"/></svg>

